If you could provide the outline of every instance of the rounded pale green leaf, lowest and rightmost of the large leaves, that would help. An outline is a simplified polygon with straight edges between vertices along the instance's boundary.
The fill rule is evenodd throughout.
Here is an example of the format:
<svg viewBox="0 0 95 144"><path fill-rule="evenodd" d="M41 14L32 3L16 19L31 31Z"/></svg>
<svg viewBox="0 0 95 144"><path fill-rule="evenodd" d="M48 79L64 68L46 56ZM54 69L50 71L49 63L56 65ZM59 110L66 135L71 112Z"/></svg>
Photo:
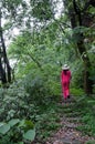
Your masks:
<svg viewBox="0 0 95 144"><path fill-rule="evenodd" d="M29 130L27 133L23 134L23 137L29 141L33 141L35 137L35 128Z"/></svg>

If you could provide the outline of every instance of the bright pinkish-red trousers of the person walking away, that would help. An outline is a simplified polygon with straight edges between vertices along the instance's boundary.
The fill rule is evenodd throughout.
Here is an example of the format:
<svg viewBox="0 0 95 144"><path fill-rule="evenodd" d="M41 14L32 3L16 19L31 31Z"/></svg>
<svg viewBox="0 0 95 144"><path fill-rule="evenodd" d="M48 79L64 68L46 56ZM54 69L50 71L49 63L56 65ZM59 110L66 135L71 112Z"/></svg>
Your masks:
<svg viewBox="0 0 95 144"><path fill-rule="evenodd" d="M67 99L67 96L70 95L70 82L64 82L62 84L62 92L63 92L64 99Z"/></svg>

